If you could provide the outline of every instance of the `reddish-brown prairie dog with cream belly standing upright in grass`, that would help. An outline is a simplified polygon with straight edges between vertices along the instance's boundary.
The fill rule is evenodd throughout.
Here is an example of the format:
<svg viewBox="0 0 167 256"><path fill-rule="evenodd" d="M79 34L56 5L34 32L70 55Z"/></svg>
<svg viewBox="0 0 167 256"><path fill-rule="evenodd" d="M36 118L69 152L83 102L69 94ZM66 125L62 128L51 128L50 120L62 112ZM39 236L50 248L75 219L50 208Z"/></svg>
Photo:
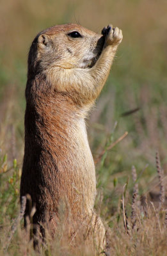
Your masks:
<svg viewBox="0 0 167 256"><path fill-rule="evenodd" d="M70 243L79 234L99 252L106 246L105 228L93 211L95 165L84 119L121 41L122 31L112 26L102 35L76 24L53 26L35 37L28 58L20 196L31 196L34 230L42 237L46 229L51 236L60 232L63 220ZM28 214L27 203L25 221Z"/></svg>

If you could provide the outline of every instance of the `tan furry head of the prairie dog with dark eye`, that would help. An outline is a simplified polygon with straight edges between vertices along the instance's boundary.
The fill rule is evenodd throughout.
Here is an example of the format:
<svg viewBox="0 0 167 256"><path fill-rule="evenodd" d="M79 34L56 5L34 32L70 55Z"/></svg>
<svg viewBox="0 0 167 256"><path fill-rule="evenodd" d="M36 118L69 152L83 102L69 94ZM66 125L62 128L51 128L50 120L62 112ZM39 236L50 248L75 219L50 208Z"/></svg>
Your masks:
<svg viewBox="0 0 167 256"><path fill-rule="evenodd" d="M40 32L29 51L29 73L53 67L90 68L100 56L104 36L77 24L54 26Z"/></svg>

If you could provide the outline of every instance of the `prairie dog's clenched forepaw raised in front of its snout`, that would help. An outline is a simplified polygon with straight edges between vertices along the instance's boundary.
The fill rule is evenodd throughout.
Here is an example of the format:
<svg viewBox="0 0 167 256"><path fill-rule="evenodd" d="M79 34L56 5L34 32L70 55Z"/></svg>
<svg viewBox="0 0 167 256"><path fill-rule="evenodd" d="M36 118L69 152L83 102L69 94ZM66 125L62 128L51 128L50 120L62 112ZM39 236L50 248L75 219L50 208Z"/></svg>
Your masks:
<svg viewBox="0 0 167 256"><path fill-rule="evenodd" d="M112 25L108 25L102 29L102 35L105 36L106 45L119 45L122 42L122 30L119 28L113 28Z"/></svg>

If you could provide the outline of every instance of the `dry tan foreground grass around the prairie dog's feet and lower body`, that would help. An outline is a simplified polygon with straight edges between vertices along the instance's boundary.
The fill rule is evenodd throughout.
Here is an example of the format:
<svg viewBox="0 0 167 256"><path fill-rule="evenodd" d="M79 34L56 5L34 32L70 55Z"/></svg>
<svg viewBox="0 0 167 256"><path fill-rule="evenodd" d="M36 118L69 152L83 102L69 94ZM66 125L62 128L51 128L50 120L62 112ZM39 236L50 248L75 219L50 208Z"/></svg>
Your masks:
<svg viewBox="0 0 167 256"><path fill-rule="evenodd" d="M6 162L5 157L3 161L4 163ZM106 223L106 225L109 225L112 221L112 227L109 232L109 249L111 254L107 255L166 255L166 206L163 197L165 188L163 170L160 167L158 154L156 154L156 162L160 186L158 202L154 204L154 201L150 201L147 194L145 195L145 200L139 198L138 177L136 169L132 166L132 180L134 182L132 199L129 189L125 188L127 184L125 184L122 188L122 198L118 202L120 207L118 207L118 211ZM4 166L4 163L2 166ZM3 168L2 166L1 168ZM13 163L13 168L18 172L16 162ZM15 186L14 180L9 182L10 186ZM17 197L15 200L18 202ZM22 200L26 203L26 198L22 198ZM11 227L9 225L10 220L6 218L7 216L3 217L3 220L6 219L6 222L1 225L0 255L35 255L30 239L33 228L31 220L29 220L27 230L24 230L22 227L21 220L25 204L23 205L20 214L17 212L18 216L12 220ZM102 202L100 207L104 207ZM30 218L35 213L33 208L31 209ZM129 209L128 213L126 209ZM67 225L64 222L63 220L60 223L59 233L55 241L52 241L47 236L45 243L40 248L40 255L94 255L94 252L88 250L88 246L84 243L83 228L78 230L81 236L79 236L80 240L77 241L77 247L73 248L70 246L70 243L67 243ZM83 223L81 223L81 227L82 225Z"/></svg>

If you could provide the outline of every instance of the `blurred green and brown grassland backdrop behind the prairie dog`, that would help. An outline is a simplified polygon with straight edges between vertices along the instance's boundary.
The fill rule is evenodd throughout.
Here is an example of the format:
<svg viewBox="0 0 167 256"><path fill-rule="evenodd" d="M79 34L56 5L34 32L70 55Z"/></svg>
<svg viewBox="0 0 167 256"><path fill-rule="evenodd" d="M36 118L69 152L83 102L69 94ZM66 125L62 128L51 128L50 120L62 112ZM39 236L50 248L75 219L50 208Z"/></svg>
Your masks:
<svg viewBox="0 0 167 256"><path fill-rule="evenodd" d="M165 0L1 0L0 148L8 166L13 159L22 166L27 58L36 33L71 22L100 33L113 24L122 29L123 41L88 120L97 188L105 202L118 198L128 177L131 184L132 165L140 193L155 188L156 150L164 172L167 168L166 10ZM128 135L107 150L125 131ZM8 168L6 180L12 175Z"/></svg>

